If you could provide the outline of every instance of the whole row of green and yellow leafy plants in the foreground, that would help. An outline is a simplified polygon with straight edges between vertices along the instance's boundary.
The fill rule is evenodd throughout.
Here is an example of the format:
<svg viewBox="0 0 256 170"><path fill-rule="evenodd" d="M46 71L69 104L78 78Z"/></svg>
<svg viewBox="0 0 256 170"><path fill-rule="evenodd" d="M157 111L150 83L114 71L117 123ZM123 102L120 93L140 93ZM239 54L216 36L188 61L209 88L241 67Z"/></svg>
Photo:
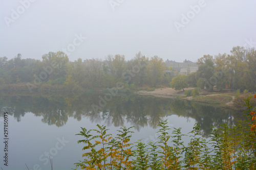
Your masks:
<svg viewBox="0 0 256 170"><path fill-rule="evenodd" d="M254 95L256 98L256 94ZM256 115L251 97L245 101L247 121L238 121L236 126L223 124L212 127L210 140L199 137L200 127L195 124L189 132L190 142L184 146L181 128L170 128L167 120L159 124L158 142L130 143L133 127L122 127L116 137L108 134L105 126L98 130L81 128L84 137L78 143L86 146L82 150L83 161L75 163L81 169L256 169ZM96 135L92 135L92 132ZM208 147L211 145L211 147ZM184 154L183 154L184 153ZM183 155L182 155L183 154Z"/></svg>

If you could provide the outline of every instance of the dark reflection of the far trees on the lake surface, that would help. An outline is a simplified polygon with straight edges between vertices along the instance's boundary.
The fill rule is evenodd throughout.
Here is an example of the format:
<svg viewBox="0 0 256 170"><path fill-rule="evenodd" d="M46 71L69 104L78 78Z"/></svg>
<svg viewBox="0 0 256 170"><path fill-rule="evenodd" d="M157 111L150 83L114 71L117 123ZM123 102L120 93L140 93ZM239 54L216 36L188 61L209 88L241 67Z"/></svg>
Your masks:
<svg viewBox="0 0 256 170"><path fill-rule="evenodd" d="M57 127L64 126L69 117L74 117L78 121L86 117L93 123L116 127L128 122L135 126L137 131L145 126L156 128L165 116L176 114L184 117L184 124L188 118L196 119L204 137L209 135L211 126L218 127L223 122L233 125L236 119L243 118L241 112L190 101L145 95L115 96L102 110L95 111L92 104L98 104L99 95L3 96L0 100L0 108L2 114L7 111L17 122L20 122L26 113L32 112L35 116L41 116L43 123Z"/></svg>

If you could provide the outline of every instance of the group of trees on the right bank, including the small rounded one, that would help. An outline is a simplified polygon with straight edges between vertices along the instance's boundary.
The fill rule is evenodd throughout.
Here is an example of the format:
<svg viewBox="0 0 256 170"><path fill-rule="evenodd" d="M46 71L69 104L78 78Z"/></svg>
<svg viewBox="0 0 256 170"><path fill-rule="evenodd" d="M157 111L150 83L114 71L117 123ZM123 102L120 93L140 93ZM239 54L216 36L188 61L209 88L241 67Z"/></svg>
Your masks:
<svg viewBox="0 0 256 170"><path fill-rule="evenodd" d="M198 71L178 75L170 86L177 90L186 87L200 87L213 90L248 90L256 91L256 51L254 48L245 49L236 46L230 55L218 54L213 57L204 55L198 59Z"/></svg>

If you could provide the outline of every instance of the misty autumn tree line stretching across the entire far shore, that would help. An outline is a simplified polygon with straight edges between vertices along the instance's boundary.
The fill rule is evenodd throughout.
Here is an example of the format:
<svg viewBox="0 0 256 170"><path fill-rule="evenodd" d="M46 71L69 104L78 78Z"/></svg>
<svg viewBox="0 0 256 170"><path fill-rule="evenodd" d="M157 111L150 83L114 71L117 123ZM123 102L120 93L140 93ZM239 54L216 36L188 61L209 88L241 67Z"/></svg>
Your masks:
<svg viewBox="0 0 256 170"><path fill-rule="evenodd" d="M66 90L112 88L122 82L126 89L138 87L171 86L177 90L186 87L200 87L212 90L256 89L256 52L254 48L233 47L230 55L218 54L213 57L204 55L198 59L198 71L186 75L165 74L167 67L163 59L148 58L137 53L126 61L123 55L108 55L104 61L78 58L70 62L63 52L49 52L41 60L22 59L18 54L12 59L0 57L0 87L10 84L26 84L38 89L48 86L65 86ZM174 78L174 79L173 79ZM171 83L170 83L171 82Z"/></svg>

